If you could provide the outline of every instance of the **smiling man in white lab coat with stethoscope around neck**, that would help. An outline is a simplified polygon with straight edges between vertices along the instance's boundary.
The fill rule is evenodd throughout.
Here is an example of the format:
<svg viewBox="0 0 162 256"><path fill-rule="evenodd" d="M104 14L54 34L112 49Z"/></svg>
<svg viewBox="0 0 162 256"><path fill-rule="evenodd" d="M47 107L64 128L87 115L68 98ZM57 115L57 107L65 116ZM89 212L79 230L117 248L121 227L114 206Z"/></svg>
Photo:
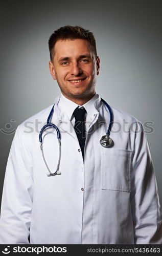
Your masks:
<svg viewBox="0 0 162 256"><path fill-rule="evenodd" d="M93 34L62 27L51 35L49 49L61 96L54 108L17 128L4 182L1 243L161 244L158 191L141 123L111 108L112 143L100 144L112 116L95 92L100 59ZM43 127L38 138L35 120L40 131L47 119L57 128ZM128 131L113 133L123 120Z"/></svg>

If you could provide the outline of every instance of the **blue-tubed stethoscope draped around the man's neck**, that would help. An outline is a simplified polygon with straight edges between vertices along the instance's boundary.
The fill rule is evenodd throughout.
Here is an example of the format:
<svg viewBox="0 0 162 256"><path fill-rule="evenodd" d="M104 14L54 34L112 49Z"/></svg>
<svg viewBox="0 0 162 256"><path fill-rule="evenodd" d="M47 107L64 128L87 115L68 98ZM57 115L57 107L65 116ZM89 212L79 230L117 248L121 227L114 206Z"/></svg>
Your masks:
<svg viewBox="0 0 162 256"><path fill-rule="evenodd" d="M101 140L100 140L100 144L103 146L103 147L112 147L113 146L113 141L112 139L109 137L110 136L110 131L111 131L111 127L112 127L112 123L113 123L113 114L112 114L112 110L110 108L110 106L107 104L107 102L103 99L101 99L102 102L106 105L108 111L109 111L109 114L110 114L110 122L109 122L109 126L108 126L108 129L107 129L107 132L106 132L106 135L102 136ZM54 104L55 105L55 104ZM59 170L59 167L60 167L60 159L61 159L61 134L60 134L60 131L58 129L58 127L54 124L54 123L51 123L51 119L52 119L52 116L54 114L54 105L53 105L53 108L50 112L50 115L47 119L47 124L45 124L40 133L39 133L39 141L40 141L40 149L41 149L41 153L42 153L42 157L43 157L43 160L44 160L44 163L49 171L49 173L47 174L47 176L55 176L55 175L60 175L61 172ZM44 131L46 131L47 129L49 128L54 128L57 132L57 139L58 139L58 145L59 145L59 158L58 158L58 163L57 163L57 168L56 168L56 172L55 173L52 173L47 162L45 161L45 157L44 157L44 153L43 153L43 139L42 139L42 134ZM51 133L51 132L49 132ZM47 133L47 134L49 134ZM45 134L45 135L47 135ZM44 135L44 137L45 137ZM43 138L44 138L43 137Z"/></svg>

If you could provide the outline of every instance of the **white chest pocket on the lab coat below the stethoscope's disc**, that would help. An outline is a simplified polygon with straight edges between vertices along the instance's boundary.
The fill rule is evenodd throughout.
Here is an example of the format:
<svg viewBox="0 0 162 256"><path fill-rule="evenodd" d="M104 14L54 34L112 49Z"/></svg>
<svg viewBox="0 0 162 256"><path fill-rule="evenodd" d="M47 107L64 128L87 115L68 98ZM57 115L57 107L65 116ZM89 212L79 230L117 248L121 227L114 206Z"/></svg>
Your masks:
<svg viewBox="0 0 162 256"><path fill-rule="evenodd" d="M102 148L102 189L130 192L132 153L132 151Z"/></svg>

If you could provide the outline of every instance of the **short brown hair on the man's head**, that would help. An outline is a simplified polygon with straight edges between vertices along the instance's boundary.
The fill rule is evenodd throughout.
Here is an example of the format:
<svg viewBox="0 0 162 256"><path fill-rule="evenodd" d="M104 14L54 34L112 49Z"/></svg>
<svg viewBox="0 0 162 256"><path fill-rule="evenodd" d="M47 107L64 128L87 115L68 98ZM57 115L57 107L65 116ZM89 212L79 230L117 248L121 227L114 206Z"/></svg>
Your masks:
<svg viewBox="0 0 162 256"><path fill-rule="evenodd" d="M51 61L53 59L54 54L54 46L56 42L61 39L84 39L87 40L95 52L95 56L97 57L96 50L96 40L92 32L89 30L83 29L80 26L64 26L54 31L54 33L50 36L49 39L49 51Z"/></svg>

